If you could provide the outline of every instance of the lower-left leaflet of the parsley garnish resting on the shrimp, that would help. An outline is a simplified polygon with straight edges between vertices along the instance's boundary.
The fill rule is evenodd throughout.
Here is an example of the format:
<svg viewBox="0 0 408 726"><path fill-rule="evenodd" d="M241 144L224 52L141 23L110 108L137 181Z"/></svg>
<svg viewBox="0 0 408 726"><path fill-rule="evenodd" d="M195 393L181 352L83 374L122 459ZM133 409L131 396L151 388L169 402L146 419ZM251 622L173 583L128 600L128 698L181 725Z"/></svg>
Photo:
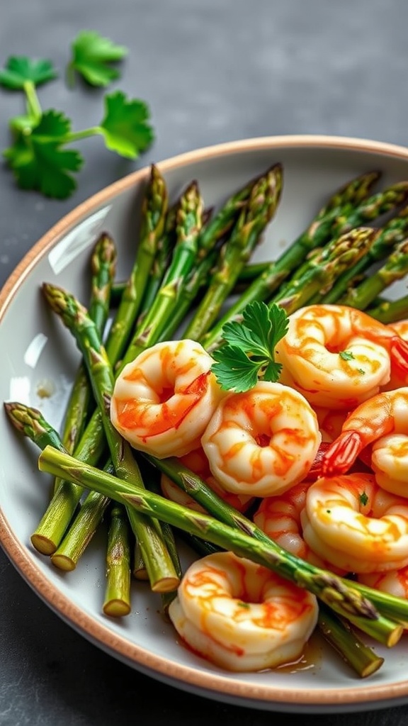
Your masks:
<svg viewBox="0 0 408 726"><path fill-rule="evenodd" d="M226 391L241 393L256 385L258 380L258 364L254 364L248 356L236 346L224 346L213 351L211 370L221 388Z"/></svg>

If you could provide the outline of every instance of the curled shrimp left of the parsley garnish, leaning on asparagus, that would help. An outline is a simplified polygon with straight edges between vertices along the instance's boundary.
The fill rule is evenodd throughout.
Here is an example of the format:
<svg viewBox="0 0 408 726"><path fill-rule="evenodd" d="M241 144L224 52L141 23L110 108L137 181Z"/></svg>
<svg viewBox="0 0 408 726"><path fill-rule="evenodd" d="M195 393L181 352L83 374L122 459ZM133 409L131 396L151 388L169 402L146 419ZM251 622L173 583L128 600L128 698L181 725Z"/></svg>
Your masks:
<svg viewBox="0 0 408 726"><path fill-rule="evenodd" d="M147 348L115 381L113 425L136 449L159 459L196 449L224 396L212 364L211 356L193 340Z"/></svg>

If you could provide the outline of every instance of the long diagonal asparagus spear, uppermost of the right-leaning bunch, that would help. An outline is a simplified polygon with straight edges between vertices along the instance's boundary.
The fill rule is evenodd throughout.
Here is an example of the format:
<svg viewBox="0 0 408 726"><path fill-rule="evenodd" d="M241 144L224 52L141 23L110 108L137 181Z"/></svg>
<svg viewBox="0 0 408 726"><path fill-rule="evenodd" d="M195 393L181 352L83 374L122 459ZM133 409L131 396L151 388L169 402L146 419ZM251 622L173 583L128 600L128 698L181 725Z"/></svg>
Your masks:
<svg viewBox="0 0 408 726"><path fill-rule="evenodd" d="M268 299L281 283L289 277L290 273L303 262L312 250L325 245L332 239L332 229L337 224L339 216L344 210L351 213L354 206L359 205L370 194L370 190L380 174L377 171L368 172L352 179L340 187L327 203L319 210L317 215L285 252L266 266L261 274L251 282L244 293L229 307L211 330L201 341L208 349L215 348L222 337L222 328L232 319L239 319L240 313L255 300Z"/></svg>

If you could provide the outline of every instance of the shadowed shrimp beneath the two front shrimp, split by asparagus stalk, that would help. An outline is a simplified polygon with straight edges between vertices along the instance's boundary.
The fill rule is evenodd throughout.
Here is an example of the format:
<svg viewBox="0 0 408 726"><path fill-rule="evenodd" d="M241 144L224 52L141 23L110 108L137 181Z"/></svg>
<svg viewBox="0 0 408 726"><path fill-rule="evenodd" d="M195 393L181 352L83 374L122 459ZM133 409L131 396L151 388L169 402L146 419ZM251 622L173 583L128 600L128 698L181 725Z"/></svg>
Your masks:
<svg viewBox="0 0 408 726"><path fill-rule="evenodd" d="M221 499L224 499L225 502L228 502L228 504L232 505L232 507L235 507L235 509L240 512L245 512L251 502L253 502L253 497L247 497L245 494L226 492L225 489L223 489L221 484L219 484L216 478L211 474L208 459L205 456L202 446L200 446L199 449L194 449L194 451L189 452L189 454L185 454L180 457L180 461L184 464L184 466L187 466L187 469L193 471L195 474L198 474L198 476L200 476L200 478L202 478L213 492L221 497ZM174 484L174 481L166 476L166 474L161 475L160 486L164 496L171 499L172 502L177 502L178 504L189 507L189 509L194 509L197 512L205 511L203 507L195 501L195 499L189 497L189 494L184 492L183 489L180 489L177 484Z"/></svg>

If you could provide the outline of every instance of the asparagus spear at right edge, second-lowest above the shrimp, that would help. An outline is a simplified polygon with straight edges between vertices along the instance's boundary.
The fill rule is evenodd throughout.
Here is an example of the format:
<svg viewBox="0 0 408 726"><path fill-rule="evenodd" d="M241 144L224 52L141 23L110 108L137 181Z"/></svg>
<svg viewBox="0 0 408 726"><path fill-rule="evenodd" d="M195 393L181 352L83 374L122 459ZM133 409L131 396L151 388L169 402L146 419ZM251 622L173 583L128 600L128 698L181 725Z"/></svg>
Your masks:
<svg viewBox="0 0 408 726"><path fill-rule="evenodd" d="M341 305L349 305L365 310L385 288L393 282L402 280L408 273L408 240L396 245L385 264L366 280L351 287L346 295L338 301Z"/></svg>

